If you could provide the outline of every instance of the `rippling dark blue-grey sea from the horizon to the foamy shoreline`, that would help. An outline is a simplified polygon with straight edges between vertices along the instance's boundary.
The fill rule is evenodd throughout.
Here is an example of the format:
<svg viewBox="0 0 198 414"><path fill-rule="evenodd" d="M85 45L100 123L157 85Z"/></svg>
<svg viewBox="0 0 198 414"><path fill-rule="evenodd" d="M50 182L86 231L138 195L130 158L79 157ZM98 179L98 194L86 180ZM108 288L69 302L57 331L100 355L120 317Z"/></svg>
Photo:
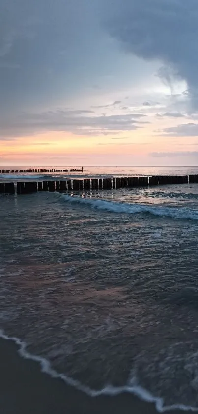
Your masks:
<svg viewBox="0 0 198 414"><path fill-rule="evenodd" d="M196 173L84 167L75 177ZM196 410L197 249L197 184L2 194L0 336L92 397L126 391L159 412Z"/></svg>

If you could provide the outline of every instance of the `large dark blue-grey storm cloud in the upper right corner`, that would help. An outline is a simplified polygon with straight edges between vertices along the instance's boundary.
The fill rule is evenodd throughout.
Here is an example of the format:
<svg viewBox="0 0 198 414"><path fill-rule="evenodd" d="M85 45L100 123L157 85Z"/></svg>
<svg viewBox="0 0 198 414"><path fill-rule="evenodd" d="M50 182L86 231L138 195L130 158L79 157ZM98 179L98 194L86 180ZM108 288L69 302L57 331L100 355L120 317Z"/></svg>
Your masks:
<svg viewBox="0 0 198 414"><path fill-rule="evenodd" d="M146 60L159 60L159 75L186 80L198 105L198 1L106 1L105 26L128 52Z"/></svg>

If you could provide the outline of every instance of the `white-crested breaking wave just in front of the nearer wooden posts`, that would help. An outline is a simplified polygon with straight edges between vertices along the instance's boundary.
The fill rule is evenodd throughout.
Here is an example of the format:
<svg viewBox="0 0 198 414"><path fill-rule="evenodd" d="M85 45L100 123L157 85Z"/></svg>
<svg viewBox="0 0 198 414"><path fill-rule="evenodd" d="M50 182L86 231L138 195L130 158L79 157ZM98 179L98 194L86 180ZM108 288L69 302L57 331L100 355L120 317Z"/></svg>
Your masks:
<svg viewBox="0 0 198 414"><path fill-rule="evenodd" d="M61 198L65 201L75 204L88 205L93 209L106 210L113 213L126 213L126 214L152 214L158 217L170 217L172 219L189 219L198 220L198 210L189 210L185 208L175 207L150 207L142 204L128 204L118 203L115 201L106 201L101 199L91 199L83 197L73 197L67 194L61 194Z"/></svg>

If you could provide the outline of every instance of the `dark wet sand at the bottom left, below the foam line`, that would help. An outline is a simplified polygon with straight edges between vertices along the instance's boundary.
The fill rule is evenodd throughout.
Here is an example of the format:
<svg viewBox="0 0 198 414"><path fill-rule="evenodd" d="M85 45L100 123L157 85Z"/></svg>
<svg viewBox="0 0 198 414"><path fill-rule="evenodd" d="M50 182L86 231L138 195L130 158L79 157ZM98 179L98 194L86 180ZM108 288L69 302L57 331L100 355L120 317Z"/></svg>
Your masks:
<svg viewBox="0 0 198 414"><path fill-rule="evenodd" d="M155 414L154 404L129 393L89 397L40 371L40 364L23 359L17 346L0 339L1 414ZM181 411L171 411L170 414ZM192 412L185 412L192 413Z"/></svg>

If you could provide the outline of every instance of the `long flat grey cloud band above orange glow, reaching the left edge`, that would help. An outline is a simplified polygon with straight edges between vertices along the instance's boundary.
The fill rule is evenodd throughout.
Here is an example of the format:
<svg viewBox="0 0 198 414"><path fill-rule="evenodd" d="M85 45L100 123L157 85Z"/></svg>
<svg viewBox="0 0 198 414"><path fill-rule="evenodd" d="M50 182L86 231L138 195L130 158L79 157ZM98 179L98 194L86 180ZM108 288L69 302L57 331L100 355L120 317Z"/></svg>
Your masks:
<svg viewBox="0 0 198 414"><path fill-rule="evenodd" d="M21 113L0 119L0 136L26 136L47 131L69 131L76 135L108 135L134 131L148 121L141 120L142 113L108 116L93 115L86 110L57 110L43 113Z"/></svg>

